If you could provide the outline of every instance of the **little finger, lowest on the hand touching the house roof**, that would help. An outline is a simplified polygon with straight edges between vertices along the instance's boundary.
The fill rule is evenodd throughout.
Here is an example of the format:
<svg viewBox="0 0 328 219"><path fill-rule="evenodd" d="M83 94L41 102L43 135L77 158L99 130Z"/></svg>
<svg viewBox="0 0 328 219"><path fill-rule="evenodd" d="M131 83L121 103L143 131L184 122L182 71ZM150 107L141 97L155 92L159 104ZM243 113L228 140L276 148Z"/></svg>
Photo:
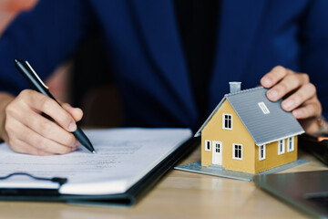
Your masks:
<svg viewBox="0 0 328 219"><path fill-rule="evenodd" d="M322 106L316 98L308 100L301 108L292 110L292 115L298 120L319 117L321 114Z"/></svg>

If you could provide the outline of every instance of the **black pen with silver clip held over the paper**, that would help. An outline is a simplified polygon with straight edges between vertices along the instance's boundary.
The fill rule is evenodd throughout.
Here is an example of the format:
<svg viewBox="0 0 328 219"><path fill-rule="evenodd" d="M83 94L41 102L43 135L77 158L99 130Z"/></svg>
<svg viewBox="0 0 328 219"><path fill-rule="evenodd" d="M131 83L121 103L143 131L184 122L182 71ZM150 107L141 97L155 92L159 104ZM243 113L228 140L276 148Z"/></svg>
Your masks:
<svg viewBox="0 0 328 219"><path fill-rule="evenodd" d="M36 71L31 67L27 61L22 61L15 58L15 68L18 69L20 73L31 83L31 85L40 93L46 95L51 99L54 99L59 105L60 103L51 95L49 89L46 87L45 83L37 76ZM96 153L91 142L87 139L86 134L77 127L77 130L72 132L77 140L87 148L88 151Z"/></svg>

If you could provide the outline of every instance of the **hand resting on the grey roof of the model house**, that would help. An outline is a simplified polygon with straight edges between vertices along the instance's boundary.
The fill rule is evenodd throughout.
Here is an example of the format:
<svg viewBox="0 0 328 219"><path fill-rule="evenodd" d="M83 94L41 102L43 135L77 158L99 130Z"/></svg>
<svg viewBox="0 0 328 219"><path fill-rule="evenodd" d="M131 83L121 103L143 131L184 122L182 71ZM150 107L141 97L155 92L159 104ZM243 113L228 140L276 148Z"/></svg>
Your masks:
<svg viewBox="0 0 328 219"><path fill-rule="evenodd" d="M261 78L261 86L269 89L268 99L283 99L282 109L292 111L306 132L314 134L320 130L316 121L322 114L322 105L307 74L277 66Z"/></svg>

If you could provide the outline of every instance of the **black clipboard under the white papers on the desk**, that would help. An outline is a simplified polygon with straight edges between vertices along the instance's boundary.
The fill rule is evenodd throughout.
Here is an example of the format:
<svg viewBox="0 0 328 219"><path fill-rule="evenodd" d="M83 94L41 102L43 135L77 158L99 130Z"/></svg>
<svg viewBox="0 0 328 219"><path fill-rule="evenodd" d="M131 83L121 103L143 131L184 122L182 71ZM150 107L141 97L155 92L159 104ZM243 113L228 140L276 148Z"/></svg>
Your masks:
<svg viewBox="0 0 328 219"><path fill-rule="evenodd" d="M34 202L65 202L86 205L123 205L132 206L138 202L156 183L181 159L200 145L200 138L191 137L179 148L172 151L162 162L159 162L138 183L131 186L126 193L108 195L72 195L60 194L57 189L0 189L1 201L34 201ZM32 176L33 178L37 178ZM60 179L60 178L59 178ZM36 179L37 180L37 179ZM53 179L46 179L53 180Z"/></svg>

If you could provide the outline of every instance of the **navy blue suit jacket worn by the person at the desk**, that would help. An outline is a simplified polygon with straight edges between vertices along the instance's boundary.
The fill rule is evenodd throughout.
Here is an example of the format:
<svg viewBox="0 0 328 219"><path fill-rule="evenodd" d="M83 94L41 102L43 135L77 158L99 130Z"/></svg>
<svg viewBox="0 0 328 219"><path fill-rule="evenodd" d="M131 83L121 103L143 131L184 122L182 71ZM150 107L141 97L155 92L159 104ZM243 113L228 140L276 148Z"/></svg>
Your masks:
<svg viewBox="0 0 328 219"><path fill-rule="evenodd" d="M276 65L308 73L327 110L328 1L221 4L208 112L229 92L229 81L242 81L242 89L255 87ZM97 25L127 124L196 130L199 115L173 5L164 0L41 0L19 15L0 40L0 88L16 94L27 87L13 58L29 60L46 78Z"/></svg>

